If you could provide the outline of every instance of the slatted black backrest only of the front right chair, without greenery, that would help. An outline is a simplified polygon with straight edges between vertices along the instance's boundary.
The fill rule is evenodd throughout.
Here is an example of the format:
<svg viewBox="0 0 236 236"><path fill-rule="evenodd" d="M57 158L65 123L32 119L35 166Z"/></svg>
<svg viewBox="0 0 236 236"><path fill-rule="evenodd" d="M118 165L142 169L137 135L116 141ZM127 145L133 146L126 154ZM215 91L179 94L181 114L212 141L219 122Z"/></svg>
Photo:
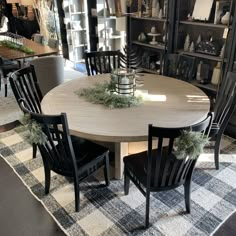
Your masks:
<svg viewBox="0 0 236 236"><path fill-rule="evenodd" d="M207 135L207 128L212 118L213 115L210 115L204 121L188 128L160 128L149 125L147 173L150 175L147 176L147 185L154 190L166 190L185 183L188 174L192 173L197 158L186 156L184 159L177 159L173 153L175 140L183 130L202 132L202 135ZM156 138L157 145L153 147ZM163 147L164 142L168 145ZM153 149L156 152L153 152Z"/></svg>

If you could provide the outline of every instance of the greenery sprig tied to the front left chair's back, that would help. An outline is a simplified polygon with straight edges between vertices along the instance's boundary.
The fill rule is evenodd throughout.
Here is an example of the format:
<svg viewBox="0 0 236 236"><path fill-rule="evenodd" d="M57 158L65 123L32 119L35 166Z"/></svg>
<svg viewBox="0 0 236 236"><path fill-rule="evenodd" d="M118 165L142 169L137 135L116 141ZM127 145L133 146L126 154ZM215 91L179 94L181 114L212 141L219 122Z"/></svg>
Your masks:
<svg viewBox="0 0 236 236"><path fill-rule="evenodd" d="M47 136L42 131L42 127L39 123L35 120L30 118L30 115L25 114L21 119L20 122L22 126L20 127L21 131L24 132L24 139L32 144L44 144L47 142Z"/></svg>

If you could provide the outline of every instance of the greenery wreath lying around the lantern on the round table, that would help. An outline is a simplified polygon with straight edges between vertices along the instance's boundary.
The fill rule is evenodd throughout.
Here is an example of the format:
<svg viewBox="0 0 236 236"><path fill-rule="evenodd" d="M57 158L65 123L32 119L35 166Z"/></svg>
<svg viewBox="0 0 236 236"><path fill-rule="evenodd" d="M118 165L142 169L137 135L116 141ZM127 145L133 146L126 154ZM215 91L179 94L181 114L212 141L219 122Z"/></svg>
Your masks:
<svg viewBox="0 0 236 236"><path fill-rule="evenodd" d="M127 108L138 106L143 102L142 97L124 96L115 94L114 85L108 82L95 84L92 88L83 88L75 91L79 96L91 103L103 104L109 108Z"/></svg>

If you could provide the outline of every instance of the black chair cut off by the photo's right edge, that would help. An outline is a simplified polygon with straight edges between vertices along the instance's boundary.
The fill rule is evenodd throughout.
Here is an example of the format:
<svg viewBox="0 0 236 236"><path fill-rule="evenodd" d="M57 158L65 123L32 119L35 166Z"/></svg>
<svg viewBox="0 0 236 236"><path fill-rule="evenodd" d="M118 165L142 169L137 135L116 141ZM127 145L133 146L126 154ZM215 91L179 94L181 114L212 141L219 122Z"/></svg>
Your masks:
<svg viewBox="0 0 236 236"><path fill-rule="evenodd" d="M229 123L231 116L236 110L236 73L227 73L219 87L219 92L213 107L215 116L210 132L210 137L211 141L214 142L214 159L216 169L218 170L222 135Z"/></svg>

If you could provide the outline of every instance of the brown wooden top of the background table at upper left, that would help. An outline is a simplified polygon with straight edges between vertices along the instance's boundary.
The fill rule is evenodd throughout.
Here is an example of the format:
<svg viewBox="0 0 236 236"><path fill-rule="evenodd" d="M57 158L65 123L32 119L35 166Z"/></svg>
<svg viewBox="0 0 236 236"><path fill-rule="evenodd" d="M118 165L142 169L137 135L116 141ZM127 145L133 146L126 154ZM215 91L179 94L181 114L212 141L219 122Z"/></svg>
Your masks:
<svg viewBox="0 0 236 236"><path fill-rule="evenodd" d="M17 60L17 59L23 59L23 58L28 58L28 57L34 57L34 56L39 56L39 57L48 56L48 55L58 53L58 49L56 48L50 48L47 45L42 45L40 43L36 43L26 38L23 39L23 44L24 46L32 49L34 53L27 54L27 53L0 45L1 57L9 59L9 60Z"/></svg>

